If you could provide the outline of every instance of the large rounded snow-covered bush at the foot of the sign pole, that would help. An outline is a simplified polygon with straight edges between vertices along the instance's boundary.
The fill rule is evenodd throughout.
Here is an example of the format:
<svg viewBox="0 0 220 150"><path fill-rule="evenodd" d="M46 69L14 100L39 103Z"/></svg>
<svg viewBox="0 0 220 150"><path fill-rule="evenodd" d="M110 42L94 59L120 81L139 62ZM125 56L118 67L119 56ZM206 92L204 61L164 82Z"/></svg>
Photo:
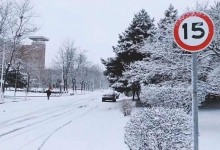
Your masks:
<svg viewBox="0 0 220 150"><path fill-rule="evenodd" d="M125 126L130 150L190 150L192 122L183 109L146 108L131 116Z"/></svg>

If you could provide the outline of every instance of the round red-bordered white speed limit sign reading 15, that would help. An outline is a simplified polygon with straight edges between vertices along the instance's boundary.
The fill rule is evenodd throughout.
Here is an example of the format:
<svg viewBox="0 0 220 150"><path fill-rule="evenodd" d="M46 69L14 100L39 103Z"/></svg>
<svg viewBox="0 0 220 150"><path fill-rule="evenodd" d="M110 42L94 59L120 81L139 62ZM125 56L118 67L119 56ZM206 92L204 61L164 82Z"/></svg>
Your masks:
<svg viewBox="0 0 220 150"><path fill-rule="evenodd" d="M203 12L188 12L180 16L174 25L174 39L182 49L197 52L205 49L214 37L212 19Z"/></svg>

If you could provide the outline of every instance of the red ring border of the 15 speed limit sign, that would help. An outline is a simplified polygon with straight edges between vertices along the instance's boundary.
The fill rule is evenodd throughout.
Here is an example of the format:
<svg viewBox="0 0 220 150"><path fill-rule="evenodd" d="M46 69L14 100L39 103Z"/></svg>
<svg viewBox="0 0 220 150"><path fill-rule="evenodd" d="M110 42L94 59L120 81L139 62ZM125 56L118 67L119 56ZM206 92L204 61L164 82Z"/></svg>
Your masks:
<svg viewBox="0 0 220 150"><path fill-rule="evenodd" d="M189 18L189 17L200 17L202 18L203 20L206 21L206 23L208 24L208 27L209 27L209 33L208 33L208 37L206 38L206 40L201 43L200 45L197 45L197 46L190 46L190 45L187 45L185 43L182 42L182 40L180 39L180 36L179 36L179 26L180 24L186 19L186 18ZM186 51L189 51L189 52L197 52L197 51L201 51L203 49L205 49L206 47L209 46L209 44L212 42L212 39L214 37L214 32L215 32L215 28L214 28L214 24L211 20L211 18L203 13L203 12L199 12L199 11L195 11L195 12L188 12L188 13L185 13L183 14L175 23L174 25L174 40L176 41L176 43L184 50Z"/></svg>

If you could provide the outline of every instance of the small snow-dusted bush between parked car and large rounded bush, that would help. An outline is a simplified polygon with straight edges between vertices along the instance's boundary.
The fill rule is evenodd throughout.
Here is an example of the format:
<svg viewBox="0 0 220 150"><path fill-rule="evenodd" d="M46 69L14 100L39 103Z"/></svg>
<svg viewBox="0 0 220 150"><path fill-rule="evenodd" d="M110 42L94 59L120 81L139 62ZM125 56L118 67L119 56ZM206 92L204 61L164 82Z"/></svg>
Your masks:
<svg viewBox="0 0 220 150"><path fill-rule="evenodd" d="M131 100L122 100L120 103L120 110L124 116L131 115L133 108L135 107L135 102Z"/></svg>

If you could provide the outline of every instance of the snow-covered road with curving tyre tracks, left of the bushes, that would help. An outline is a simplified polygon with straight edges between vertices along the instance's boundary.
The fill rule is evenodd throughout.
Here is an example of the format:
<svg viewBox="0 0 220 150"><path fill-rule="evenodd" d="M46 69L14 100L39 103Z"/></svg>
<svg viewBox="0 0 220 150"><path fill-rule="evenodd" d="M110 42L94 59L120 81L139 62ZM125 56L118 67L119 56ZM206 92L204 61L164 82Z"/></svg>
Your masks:
<svg viewBox="0 0 220 150"><path fill-rule="evenodd" d="M102 92L99 91L84 95L51 97L49 101L46 97L36 97L29 101L0 105L0 150L91 150L92 145L94 147L101 142L96 141L91 134L96 134L98 138L102 135L108 136L97 128L101 124L97 115L100 113L96 112L105 111L106 114L117 107L117 103L102 103L101 95ZM100 119L103 118L102 115L101 113ZM115 115L126 120L119 111L116 111ZM109 119L114 120L115 117L107 118L107 121L111 121ZM113 123L117 121L117 118L115 119ZM118 126L122 130L122 141L116 141L122 143L118 145L120 147L124 144L124 125L119 123ZM107 131L106 134L109 132L112 131ZM111 136L106 138L111 139ZM114 138L112 140L114 141ZM109 143L115 143L113 141Z"/></svg>

